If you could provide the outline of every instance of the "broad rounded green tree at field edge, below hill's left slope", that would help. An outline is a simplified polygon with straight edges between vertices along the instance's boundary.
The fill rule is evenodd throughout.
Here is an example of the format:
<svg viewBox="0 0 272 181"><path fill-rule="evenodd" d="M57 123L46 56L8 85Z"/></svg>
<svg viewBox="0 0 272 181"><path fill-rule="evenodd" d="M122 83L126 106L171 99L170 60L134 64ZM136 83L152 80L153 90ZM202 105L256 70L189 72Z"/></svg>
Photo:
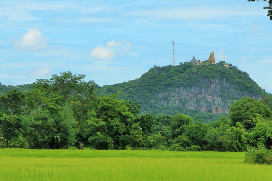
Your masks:
<svg viewBox="0 0 272 181"><path fill-rule="evenodd" d="M117 100L116 95L100 96L96 117L91 117L88 121L88 140L94 148L124 149L131 143L138 146L142 139L142 129L140 123L136 122L137 112L130 112L133 105L128 104L129 102Z"/></svg>

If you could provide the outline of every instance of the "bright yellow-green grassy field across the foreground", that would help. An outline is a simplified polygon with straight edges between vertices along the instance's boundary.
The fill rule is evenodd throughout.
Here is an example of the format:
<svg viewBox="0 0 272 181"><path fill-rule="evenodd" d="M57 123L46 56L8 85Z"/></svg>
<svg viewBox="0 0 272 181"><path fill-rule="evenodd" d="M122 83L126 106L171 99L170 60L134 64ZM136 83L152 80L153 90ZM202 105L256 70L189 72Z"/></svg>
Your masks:
<svg viewBox="0 0 272 181"><path fill-rule="evenodd" d="M0 180L271 181L244 153L0 149Z"/></svg>

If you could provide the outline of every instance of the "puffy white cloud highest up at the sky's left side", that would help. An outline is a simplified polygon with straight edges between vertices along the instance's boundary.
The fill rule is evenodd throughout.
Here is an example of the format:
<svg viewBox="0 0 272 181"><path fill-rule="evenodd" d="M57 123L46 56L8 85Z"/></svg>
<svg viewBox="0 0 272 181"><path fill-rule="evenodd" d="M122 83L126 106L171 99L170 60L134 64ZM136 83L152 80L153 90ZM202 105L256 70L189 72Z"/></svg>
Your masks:
<svg viewBox="0 0 272 181"><path fill-rule="evenodd" d="M47 47L46 39L36 29L28 29L19 40L13 40L15 48L19 50L38 51Z"/></svg>

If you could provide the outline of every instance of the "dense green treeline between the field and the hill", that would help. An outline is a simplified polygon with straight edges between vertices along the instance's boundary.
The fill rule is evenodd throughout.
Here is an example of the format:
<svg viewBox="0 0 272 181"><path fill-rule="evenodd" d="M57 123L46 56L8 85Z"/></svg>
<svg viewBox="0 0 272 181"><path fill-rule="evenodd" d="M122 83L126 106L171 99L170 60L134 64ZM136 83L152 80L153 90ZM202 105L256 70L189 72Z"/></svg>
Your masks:
<svg viewBox="0 0 272 181"><path fill-rule="evenodd" d="M116 95L96 96L85 75L63 72L39 79L34 90L0 97L2 148L162 149L246 151L271 149L272 100L244 97L229 118L215 122L184 115L139 115L139 105ZM204 121L204 122L203 122Z"/></svg>

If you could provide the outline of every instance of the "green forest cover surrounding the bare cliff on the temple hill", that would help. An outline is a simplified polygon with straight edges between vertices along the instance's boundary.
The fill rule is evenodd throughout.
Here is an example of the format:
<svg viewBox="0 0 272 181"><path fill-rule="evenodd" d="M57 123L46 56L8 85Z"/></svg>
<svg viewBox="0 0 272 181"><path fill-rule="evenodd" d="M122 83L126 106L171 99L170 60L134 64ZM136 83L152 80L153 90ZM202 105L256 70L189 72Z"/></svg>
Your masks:
<svg viewBox="0 0 272 181"><path fill-rule="evenodd" d="M138 79L114 85L105 85L100 87L96 93L105 95L117 94L118 99L138 102L141 105L140 113L155 113L158 115L185 113L206 119L209 117L208 115L202 114L200 111L187 109L185 107L186 101L181 102L178 106L162 104L161 101L169 102L172 95L164 94L162 98L158 98L158 94L175 92L175 89L179 87L203 87L203 89L208 89L210 85L207 84L207 81L211 83L219 81L219 88L223 87L223 81L231 84L235 94L228 92L226 88L222 89L220 95L218 95L226 104L228 104L229 100L239 100L244 96L256 98L271 97L246 72L238 69L231 70L217 65L202 64L198 66L191 63L183 63L177 66L154 66L154 68L151 68ZM197 97L196 101L198 100L201 101L201 98ZM207 112L211 112L211 110L207 110Z"/></svg>

